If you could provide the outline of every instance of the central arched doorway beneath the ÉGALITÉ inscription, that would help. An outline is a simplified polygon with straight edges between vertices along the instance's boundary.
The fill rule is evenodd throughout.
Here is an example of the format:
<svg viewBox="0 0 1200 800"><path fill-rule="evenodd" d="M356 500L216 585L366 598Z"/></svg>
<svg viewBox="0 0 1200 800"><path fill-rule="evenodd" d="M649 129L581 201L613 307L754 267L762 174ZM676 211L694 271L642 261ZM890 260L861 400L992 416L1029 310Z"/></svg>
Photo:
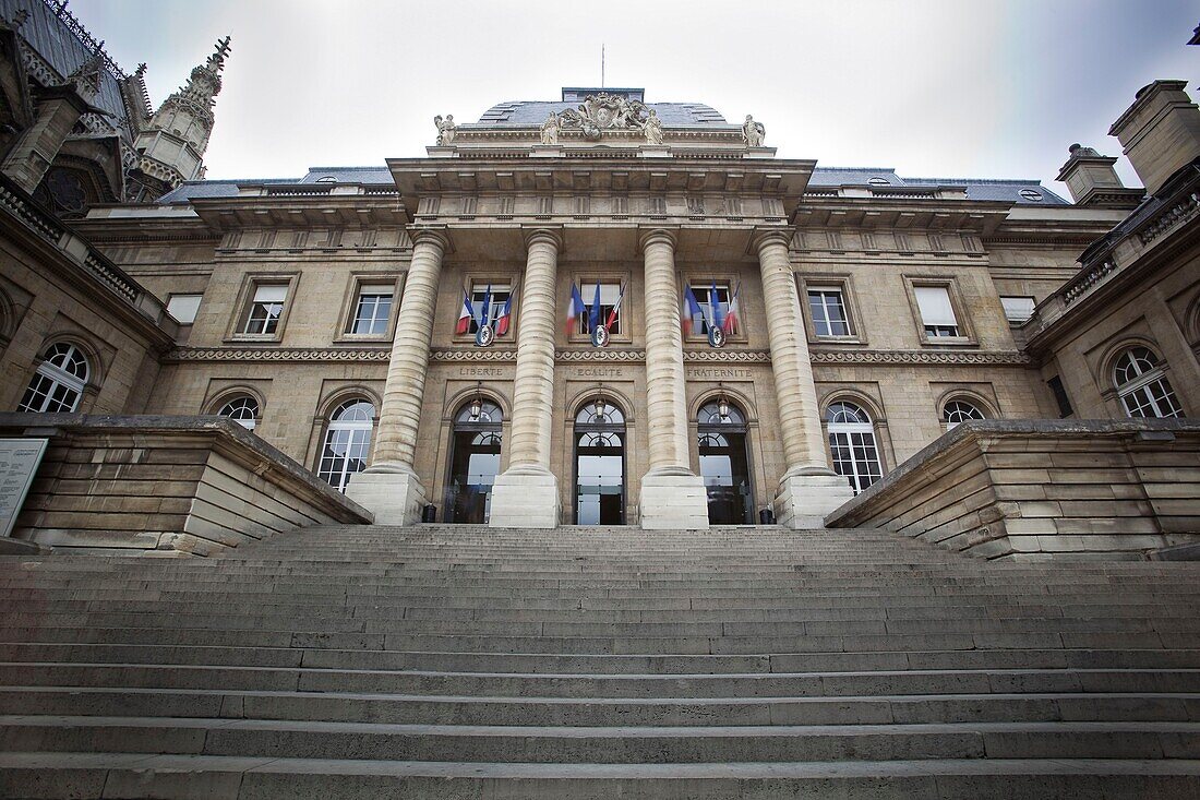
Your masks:
<svg viewBox="0 0 1200 800"><path fill-rule="evenodd" d="M625 524L625 414L602 396L575 416L575 524Z"/></svg>

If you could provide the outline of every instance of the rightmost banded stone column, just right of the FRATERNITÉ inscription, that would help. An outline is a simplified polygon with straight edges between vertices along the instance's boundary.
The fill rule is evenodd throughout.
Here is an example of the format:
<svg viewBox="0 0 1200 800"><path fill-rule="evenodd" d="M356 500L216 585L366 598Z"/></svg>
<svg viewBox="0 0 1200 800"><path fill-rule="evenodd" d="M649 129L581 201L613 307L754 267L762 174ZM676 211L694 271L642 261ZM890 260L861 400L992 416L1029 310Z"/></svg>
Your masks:
<svg viewBox="0 0 1200 800"><path fill-rule="evenodd" d="M821 408L817 405L808 338L787 258L790 229L769 229L755 238L767 310L770 365L775 377L780 438L787 471L775 508L791 527L824 527L824 515L853 497L850 482L829 468Z"/></svg>

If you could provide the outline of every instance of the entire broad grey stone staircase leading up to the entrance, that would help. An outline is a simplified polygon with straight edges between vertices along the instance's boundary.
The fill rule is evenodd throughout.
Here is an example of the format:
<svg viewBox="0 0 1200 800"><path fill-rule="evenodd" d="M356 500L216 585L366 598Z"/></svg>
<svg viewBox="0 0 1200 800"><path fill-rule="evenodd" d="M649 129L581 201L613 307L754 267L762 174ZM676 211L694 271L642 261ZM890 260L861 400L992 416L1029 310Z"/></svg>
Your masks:
<svg viewBox="0 0 1200 800"><path fill-rule="evenodd" d="M6 798L1200 798L1200 565L314 527L0 557Z"/></svg>

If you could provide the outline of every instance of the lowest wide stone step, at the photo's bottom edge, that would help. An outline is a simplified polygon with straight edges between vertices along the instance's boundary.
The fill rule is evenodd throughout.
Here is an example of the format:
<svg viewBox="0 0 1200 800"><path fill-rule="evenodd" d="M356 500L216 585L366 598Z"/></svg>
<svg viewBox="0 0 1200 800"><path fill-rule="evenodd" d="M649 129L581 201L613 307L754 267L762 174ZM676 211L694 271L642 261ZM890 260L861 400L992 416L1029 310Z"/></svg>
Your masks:
<svg viewBox="0 0 1200 800"><path fill-rule="evenodd" d="M532 764L229 758L149 753L0 753L6 796L204 796L211 800L382 796L571 800L908 800L1200 795L1200 762L941 759L708 764Z"/></svg>

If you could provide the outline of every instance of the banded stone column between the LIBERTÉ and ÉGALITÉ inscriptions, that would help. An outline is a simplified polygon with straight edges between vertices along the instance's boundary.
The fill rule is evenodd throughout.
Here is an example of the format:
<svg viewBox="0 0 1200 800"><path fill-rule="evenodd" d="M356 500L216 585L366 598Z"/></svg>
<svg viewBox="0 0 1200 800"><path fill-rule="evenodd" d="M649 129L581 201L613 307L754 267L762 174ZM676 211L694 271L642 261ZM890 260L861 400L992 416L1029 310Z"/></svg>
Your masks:
<svg viewBox="0 0 1200 800"><path fill-rule="evenodd" d="M492 527L556 527L558 480L550 471L554 401L554 285L562 238L552 228L526 234L526 273L517 317L509 468L492 486Z"/></svg>

